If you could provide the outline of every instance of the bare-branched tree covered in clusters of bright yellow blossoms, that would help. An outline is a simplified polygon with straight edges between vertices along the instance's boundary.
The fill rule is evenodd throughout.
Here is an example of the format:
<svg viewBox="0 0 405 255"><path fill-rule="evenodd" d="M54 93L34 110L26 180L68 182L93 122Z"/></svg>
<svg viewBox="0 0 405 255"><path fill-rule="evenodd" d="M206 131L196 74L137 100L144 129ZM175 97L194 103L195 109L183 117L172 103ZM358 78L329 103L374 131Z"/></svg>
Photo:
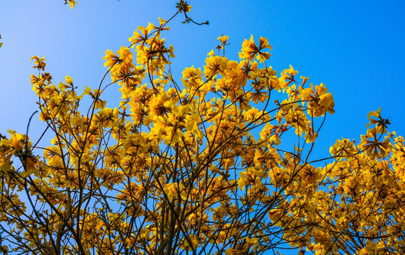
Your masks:
<svg viewBox="0 0 405 255"><path fill-rule="evenodd" d="M194 22L190 9L179 1L174 16ZM107 50L106 74L82 94L70 77L53 84L45 59L32 58L54 138L40 147L1 135L4 253L404 252L404 139L387 133L379 111L359 145L339 140L318 166L327 159L309 156L334 112L325 85L291 66L277 75L266 38L245 40L240 60L228 60L225 35L202 69L175 81L167 23ZM113 86L122 98L106 108ZM291 147L285 136L296 137Z"/></svg>

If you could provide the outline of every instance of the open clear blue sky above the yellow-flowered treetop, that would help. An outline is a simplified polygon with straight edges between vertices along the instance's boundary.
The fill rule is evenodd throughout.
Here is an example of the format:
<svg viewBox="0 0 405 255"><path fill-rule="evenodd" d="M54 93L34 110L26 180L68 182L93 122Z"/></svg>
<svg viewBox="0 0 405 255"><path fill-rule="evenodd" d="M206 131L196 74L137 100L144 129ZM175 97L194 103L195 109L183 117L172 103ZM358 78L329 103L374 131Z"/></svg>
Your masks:
<svg viewBox="0 0 405 255"><path fill-rule="evenodd" d="M128 45L138 26L169 18L176 1L77 0L0 1L0 132L25 132L37 108L30 87L30 57L45 56L55 84L65 75L75 86L96 86L106 71L104 51ZM382 108L390 130L405 135L404 1L190 1L190 15L209 26L183 25L164 34L174 45L174 79L184 67L202 67L219 35L228 35L227 57L236 60L245 38L260 35L273 46L270 65L292 64L299 74L333 92L335 114L326 121L316 152L340 137L360 140L367 113ZM111 90L111 98L114 92ZM36 115L31 134L43 127Z"/></svg>

